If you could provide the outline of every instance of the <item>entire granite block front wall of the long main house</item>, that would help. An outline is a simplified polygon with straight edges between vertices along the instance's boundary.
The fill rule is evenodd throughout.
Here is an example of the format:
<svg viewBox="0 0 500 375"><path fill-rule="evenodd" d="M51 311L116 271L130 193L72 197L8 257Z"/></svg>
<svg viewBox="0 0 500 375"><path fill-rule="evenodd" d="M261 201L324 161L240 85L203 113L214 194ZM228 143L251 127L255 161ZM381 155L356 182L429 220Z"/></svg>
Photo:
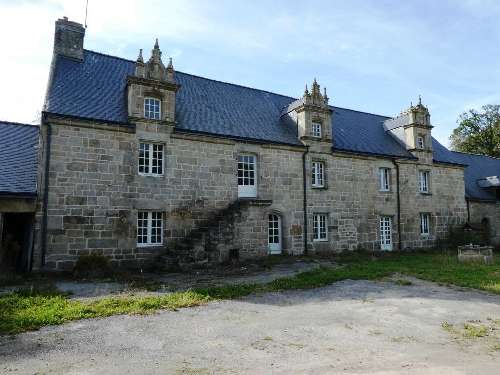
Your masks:
<svg viewBox="0 0 500 375"><path fill-rule="evenodd" d="M257 157L258 196L239 207L234 222L215 225L219 252L237 250L241 258L267 254L267 217L282 220L283 252L304 250L302 156L304 148L259 145L194 134L172 126L140 122L136 129L53 119L49 173L46 267L70 269L79 255L109 256L117 266L140 266L175 254L176 244L207 225L237 201L237 156ZM138 174L140 141L165 146L165 173ZM327 142L311 147L306 158L308 243L314 252L380 249L381 216L393 218L393 249L399 248L396 169L392 160L331 153ZM311 162L326 166L326 187L311 187ZM401 249L428 247L448 225L465 223L463 170L399 160ZM379 168L391 169L391 191L379 191ZM431 170L431 194L418 192L418 170ZM164 244L137 247L137 212L164 213ZM420 235L420 213L431 214L431 234ZM328 214L327 242L314 242L312 216ZM41 207L37 213L35 268L40 266ZM225 230L229 232L222 235ZM208 232L207 232L208 233ZM219 237L217 237L219 236ZM206 237L203 234L201 237ZM205 241L206 238L201 238ZM203 244L202 244L203 245ZM193 245L194 246L194 245ZM200 249L201 245L196 245ZM216 258L221 259L219 255Z"/></svg>

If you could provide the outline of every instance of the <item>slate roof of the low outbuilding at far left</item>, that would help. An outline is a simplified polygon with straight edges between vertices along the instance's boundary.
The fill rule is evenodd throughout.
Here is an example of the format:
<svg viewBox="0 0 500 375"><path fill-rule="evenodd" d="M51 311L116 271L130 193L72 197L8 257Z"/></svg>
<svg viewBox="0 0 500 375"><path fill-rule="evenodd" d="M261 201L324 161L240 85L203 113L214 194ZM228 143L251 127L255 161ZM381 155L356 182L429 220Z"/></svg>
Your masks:
<svg viewBox="0 0 500 375"><path fill-rule="evenodd" d="M38 126L0 121L0 196L35 195Z"/></svg>

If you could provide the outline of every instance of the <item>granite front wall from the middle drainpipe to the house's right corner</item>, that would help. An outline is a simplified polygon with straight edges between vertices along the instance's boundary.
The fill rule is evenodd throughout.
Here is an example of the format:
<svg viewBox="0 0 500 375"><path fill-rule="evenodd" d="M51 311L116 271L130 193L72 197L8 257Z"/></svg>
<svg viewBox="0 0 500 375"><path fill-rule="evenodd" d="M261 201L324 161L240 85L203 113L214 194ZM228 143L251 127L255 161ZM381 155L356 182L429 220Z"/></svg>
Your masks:
<svg viewBox="0 0 500 375"><path fill-rule="evenodd" d="M392 217L393 249L399 248L396 167L391 159L341 153L308 155L308 243L315 252L380 249L380 217ZM326 165L326 187L311 187L311 162ZM446 237L450 225L465 224L463 169L397 160L400 170L401 249L435 246ZM391 189L380 191L379 168L391 171ZM430 194L418 190L418 171L431 171ZM312 215L327 213L329 240L314 242ZM420 234L420 213L429 213L430 235Z"/></svg>

